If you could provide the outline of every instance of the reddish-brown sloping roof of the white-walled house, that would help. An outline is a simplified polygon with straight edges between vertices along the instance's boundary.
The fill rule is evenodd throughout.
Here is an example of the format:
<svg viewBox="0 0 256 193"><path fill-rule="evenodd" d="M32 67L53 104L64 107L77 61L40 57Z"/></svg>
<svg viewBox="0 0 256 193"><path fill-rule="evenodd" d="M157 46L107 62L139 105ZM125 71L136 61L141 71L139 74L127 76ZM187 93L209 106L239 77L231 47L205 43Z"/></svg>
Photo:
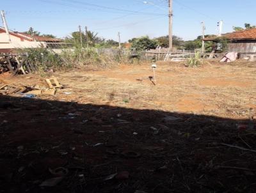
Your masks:
<svg viewBox="0 0 256 193"><path fill-rule="evenodd" d="M0 30L4 31L4 33L5 33L4 27L0 27ZM26 33L20 33L17 31L9 30L9 33L10 33L10 35L13 35L13 36L19 36L20 38L26 38L29 41L36 40L36 42L63 42L63 40L58 39L58 38L48 38L48 37L44 37L44 36L31 36Z"/></svg>

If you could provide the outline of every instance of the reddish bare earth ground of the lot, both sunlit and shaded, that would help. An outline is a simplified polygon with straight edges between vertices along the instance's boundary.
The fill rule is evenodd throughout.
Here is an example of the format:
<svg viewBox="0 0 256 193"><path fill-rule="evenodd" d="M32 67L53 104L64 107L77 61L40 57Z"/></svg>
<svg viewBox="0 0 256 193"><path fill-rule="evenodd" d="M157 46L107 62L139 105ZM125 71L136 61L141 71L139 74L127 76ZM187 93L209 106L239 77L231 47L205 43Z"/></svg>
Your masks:
<svg viewBox="0 0 256 193"><path fill-rule="evenodd" d="M54 73L54 96L0 95L0 192L255 192L255 67L158 63L154 85L150 64L121 65Z"/></svg>

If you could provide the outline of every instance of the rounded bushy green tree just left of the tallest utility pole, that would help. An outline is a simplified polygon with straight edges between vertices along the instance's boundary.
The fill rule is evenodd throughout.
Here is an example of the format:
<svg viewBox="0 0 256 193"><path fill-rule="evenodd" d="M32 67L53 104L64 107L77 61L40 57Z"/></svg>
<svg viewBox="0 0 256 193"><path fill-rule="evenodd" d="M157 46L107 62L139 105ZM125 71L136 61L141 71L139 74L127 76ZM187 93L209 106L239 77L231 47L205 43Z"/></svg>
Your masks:
<svg viewBox="0 0 256 193"><path fill-rule="evenodd" d="M148 36L143 36L141 38L137 38L132 43L132 49L136 50L149 50L149 49L156 49L158 45L157 40L150 40Z"/></svg>

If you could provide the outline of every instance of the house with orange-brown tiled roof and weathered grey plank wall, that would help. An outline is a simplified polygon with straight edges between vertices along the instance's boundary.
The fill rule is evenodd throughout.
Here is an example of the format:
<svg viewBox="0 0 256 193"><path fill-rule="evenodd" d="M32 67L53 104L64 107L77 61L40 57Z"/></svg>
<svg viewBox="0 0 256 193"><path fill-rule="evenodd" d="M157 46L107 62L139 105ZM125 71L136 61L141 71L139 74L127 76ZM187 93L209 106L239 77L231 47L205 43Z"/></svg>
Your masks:
<svg viewBox="0 0 256 193"><path fill-rule="evenodd" d="M228 52L239 52L241 54L256 54L256 28L234 31L221 35L228 40ZM218 42L220 36L204 38L204 41Z"/></svg>

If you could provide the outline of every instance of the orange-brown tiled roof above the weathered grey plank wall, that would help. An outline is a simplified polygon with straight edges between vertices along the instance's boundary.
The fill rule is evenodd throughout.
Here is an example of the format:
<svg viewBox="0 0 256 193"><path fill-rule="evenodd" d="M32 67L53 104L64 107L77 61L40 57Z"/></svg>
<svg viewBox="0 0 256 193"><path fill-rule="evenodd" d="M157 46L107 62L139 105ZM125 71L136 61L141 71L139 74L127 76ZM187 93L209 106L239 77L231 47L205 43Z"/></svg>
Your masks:
<svg viewBox="0 0 256 193"><path fill-rule="evenodd" d="M242 31L234 31L232 33L226 33L222 37L227 38L228 40L256 40L256 28L244 29ZM218 38L217 36L212 36L204 38L205 41L213 41Z"/></svg>

